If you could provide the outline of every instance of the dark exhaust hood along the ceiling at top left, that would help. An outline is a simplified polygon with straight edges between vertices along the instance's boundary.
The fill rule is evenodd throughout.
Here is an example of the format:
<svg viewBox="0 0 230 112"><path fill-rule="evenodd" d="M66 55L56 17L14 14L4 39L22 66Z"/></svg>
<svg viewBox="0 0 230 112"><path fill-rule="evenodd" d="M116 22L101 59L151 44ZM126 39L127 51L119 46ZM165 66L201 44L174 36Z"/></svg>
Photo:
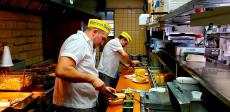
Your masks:
<svg viewBox="0 0 230 112"><path fill-rule="evenodd" d="M75 4L71 4L75 3L75 1L76 0L65 0L65 2L63 0L0 0L0 9L33 14L99 18L98 15L81 10L75 7Z"/></svg>

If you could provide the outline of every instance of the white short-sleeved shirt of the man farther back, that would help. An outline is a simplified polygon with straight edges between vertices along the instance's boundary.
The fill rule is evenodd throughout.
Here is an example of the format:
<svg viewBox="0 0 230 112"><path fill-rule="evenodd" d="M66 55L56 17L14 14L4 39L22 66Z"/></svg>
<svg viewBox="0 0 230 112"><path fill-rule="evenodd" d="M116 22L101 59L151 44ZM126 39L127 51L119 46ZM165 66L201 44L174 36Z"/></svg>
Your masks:
<svg viewBox="0 0 230 112"><path fill-rule="evenodd" d="M112 78L115 78L120 63L120 55L117 51L122 49L123 47L118 38L110 40L105 45L101 54L98 71Z"/></svg>

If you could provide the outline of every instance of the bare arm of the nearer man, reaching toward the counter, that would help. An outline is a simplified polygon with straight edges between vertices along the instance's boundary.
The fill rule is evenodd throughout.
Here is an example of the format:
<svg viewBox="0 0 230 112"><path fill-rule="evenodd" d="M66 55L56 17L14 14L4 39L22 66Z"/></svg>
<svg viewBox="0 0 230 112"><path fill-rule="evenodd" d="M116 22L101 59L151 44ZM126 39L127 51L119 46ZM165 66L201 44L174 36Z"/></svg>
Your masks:
<svg viewBox="0 0 230 112"><path fill-rule="evenodd" d="M113 88L106 88L104 82L95 74L86 74L79 72L75 69L77 63L70 58L61 56L58 59L58 63L55 70L55 75L58 78L63 80L79 83L79 82L88 82L91 83L95 89L99 90L100 92L106 92L106 89L109 91L114 92Z"/></svg>

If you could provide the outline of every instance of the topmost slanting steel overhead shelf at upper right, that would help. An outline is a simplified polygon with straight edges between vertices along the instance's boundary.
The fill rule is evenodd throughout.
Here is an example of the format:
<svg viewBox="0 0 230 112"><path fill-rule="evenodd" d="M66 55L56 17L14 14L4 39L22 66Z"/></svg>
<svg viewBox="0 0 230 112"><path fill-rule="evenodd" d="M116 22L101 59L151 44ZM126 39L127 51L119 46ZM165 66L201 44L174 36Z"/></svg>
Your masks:
<svg viewBox="0 0 230 112"><path fill-rule="evenodd" d="M196 7L218 8L230 6L230 0L192 0L160 18L164 24L190 24L190 16ZM228 15L229 16L229 15Z"/></svg>

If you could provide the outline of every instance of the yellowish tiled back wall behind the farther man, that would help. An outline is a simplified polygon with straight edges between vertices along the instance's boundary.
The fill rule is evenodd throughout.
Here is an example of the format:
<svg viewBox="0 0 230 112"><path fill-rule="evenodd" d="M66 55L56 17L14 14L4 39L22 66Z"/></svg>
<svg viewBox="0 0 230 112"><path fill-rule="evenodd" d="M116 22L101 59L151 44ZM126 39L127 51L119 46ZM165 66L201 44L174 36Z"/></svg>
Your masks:
<svg viewBox="0 0 230 112"><path fill-rule="evenodd" d="M141 13L142 9L115 9L115 35L126 31L133 38L133 42L125 47L129 54L146 54L144 44L146 29L138 25Z"/></svg>

